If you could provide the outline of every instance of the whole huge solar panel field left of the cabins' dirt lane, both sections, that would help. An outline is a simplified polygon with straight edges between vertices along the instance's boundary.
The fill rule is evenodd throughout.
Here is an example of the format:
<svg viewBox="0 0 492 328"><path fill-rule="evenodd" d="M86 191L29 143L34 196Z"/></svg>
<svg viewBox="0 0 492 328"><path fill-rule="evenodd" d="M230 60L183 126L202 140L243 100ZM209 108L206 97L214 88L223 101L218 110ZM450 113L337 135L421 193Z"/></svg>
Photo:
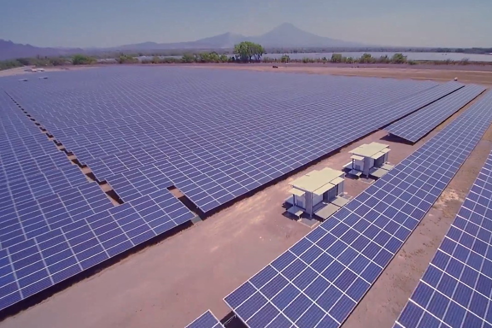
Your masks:
<svg viewBox="0 0 492 328"><path fill-rule="evenodd" d="M463 86L163 67L48 75L0 79L0 309L192 219L171 185L209 211Z"/></svg>

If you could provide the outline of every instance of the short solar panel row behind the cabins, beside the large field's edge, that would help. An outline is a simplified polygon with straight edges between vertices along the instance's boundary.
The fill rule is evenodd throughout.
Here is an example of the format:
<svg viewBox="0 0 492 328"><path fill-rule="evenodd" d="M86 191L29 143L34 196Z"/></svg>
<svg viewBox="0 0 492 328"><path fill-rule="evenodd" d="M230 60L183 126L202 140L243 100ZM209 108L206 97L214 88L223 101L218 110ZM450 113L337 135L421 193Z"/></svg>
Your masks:
<svg viewBox="0 0 492 328"><path fill-rule="evenodd" d="M386 127L389 133L416 142L446 118L485 90L481 85L466 85L452 94Z"/></svg>

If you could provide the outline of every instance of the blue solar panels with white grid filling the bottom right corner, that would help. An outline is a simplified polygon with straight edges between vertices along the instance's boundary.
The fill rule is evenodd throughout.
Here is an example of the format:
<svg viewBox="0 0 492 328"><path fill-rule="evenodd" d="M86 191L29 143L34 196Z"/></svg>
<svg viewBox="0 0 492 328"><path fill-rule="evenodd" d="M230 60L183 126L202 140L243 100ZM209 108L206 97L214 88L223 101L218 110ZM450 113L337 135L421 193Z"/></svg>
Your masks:
<svg viewBox="0 0 492 328"><path fill-rule="evenodd" d="M492 326L492 152L395 327Z"/></svg>

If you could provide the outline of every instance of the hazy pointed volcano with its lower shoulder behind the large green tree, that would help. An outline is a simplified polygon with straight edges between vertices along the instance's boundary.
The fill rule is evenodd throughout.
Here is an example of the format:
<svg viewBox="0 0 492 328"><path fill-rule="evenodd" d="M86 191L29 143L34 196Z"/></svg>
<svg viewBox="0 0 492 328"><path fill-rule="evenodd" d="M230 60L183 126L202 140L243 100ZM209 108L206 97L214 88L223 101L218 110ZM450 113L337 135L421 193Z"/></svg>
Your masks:
<svg viewBox="0 0 492 328"><path fill-rule="evenodd" d="M159 49L199 49L199 48L231 48L240 41L253 41L263 47L361 47L365 44L347 42L306 32L290 23L283 23L269 32L256 36L244 36L223 33L196 41L178 43L144 42L126 44L112 48L126 50L159 50Z"/></svg>

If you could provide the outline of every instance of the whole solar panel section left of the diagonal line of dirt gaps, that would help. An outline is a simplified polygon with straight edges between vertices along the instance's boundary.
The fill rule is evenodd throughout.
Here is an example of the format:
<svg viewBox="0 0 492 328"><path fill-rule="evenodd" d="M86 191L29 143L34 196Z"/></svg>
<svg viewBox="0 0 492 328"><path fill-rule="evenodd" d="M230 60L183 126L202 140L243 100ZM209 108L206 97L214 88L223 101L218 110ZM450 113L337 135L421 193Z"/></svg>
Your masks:
<svg viewBox="0 0 492 328"><path fill-rule="evenodd" d="M114 207L3 92L0 112L0 309L194 217L166 189Z"/></svg>

